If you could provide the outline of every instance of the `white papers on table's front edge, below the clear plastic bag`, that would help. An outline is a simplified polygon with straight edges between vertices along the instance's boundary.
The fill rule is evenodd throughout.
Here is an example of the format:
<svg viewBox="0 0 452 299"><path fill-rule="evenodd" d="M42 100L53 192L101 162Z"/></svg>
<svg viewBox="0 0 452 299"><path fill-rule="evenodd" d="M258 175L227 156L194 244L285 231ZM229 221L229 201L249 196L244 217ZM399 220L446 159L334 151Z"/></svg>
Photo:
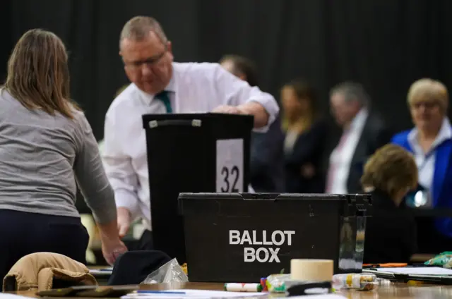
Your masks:
<svg viewBox="0 0 452 299"><path fill-rule="evenodd" d="M174 293L170 293L174 292ZM184 294L177 294L184 292ZM121 299L222 299L222 298L267 298L268 293L247 293L247 292L227 292L227 291L206 291L206 290L165 290L159 293L131 293L124 295ZM0 298L1 299L1 298ZM315 298L314 298L315 299Z"/></svg>

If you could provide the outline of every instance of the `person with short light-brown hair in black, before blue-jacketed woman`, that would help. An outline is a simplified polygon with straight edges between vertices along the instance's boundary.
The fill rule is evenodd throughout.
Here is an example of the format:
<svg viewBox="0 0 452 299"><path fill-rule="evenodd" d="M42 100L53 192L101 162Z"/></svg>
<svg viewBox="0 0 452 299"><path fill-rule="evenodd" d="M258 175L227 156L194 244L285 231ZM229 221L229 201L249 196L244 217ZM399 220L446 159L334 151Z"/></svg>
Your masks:
<svg viewBox="0 0 452 299"><path fill-rule="evenodd" d="M371 193L372 202L364 263L410 262L417 252L416 223L400 204L417 185L417 166L412 154L398 145L381 147L364 166L361 183L364 192Z"/></svg>

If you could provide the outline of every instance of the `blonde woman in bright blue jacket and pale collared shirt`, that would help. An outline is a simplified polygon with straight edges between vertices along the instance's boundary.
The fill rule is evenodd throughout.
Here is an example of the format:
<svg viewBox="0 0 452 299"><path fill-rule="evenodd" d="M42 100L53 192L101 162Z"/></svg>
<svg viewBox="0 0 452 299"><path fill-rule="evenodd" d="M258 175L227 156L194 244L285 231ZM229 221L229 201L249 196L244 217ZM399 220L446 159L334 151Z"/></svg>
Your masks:
<svg viewBox="0 0 452 299"><path fill-rule="evenodd" d="M415 128L399 133L392 142L415 156L418 190L413 208L452 208L452 127L447 117L448 91L443 83L423 78L408 91L408 107ZM420 194L420 193L418 193ZM452 248L452 219L417 219L420 253Z"/></svg>

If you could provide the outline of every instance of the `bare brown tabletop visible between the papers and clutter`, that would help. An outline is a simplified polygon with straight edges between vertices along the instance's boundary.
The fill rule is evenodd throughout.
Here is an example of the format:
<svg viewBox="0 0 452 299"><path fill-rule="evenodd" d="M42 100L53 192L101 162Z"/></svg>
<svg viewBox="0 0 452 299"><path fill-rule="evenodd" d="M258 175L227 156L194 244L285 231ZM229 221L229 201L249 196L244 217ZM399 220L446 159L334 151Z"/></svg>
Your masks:
<svg viewBox="0 0 452 299"><path fill-rule="evenodd" d="M164 290L167 288L191 288L201 290L222 290L222 283L184 283L179 286L168 286L163 284L141 285L143 289ZM36 298L35 291L19 291L17 295ZM379 286L374 291L344 291L341 292L346 298L350 299L393 299L393 298L419 298L419 299L441 299L452 298L452 286L432 286L428 284L408 286L406 283L388 283L385 286ZM278 297L278 295L273 295Z"/></svg>

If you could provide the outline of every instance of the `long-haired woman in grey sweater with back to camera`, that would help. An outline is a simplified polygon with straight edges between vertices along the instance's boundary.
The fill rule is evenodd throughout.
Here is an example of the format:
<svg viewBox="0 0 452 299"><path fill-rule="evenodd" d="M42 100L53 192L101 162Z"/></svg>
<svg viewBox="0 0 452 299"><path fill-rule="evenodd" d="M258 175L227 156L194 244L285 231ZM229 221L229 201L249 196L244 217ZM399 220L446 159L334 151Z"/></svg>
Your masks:
<svg viewBox="0 0 452 299"><path fill-rule="evenodd" d="M93 131L70 99L67 58L59 37L35 29L20 37L8 61L0 89L0 277L33 252L85 262L76 182L107 262L126 250Z"/></svg>

